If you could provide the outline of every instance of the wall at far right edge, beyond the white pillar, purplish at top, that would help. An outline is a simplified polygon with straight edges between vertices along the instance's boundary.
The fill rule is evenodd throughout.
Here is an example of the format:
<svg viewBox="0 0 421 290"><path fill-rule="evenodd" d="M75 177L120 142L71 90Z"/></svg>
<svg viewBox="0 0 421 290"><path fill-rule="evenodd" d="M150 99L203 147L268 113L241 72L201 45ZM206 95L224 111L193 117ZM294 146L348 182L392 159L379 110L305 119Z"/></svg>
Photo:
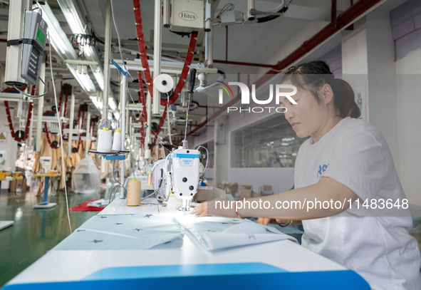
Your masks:
<svg viewBox="0 0 421 290"><path fill-rule="evenodd" d="M396 43L397 125L400 181L410 204L421 207L421 4L407 1L391 11Z"/></svg>

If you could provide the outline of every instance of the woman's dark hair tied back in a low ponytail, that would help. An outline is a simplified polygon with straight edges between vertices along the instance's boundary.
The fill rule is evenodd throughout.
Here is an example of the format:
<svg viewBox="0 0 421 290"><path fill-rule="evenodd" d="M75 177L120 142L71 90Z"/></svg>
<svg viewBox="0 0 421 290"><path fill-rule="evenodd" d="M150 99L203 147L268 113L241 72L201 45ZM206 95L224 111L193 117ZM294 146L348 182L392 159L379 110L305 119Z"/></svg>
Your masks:
<svg viewBox="0 0 421 290"><path fill-rule="evenodd" d="M318 103L318 90L327 83L333 90L333 104L339 110L341 118L359 118L361 115L360 108L355 103L353 88L346 81L335 78L331 68L324 61L311 61L289 68L282 79L282 83L286 82L310 91Z"/></svg>

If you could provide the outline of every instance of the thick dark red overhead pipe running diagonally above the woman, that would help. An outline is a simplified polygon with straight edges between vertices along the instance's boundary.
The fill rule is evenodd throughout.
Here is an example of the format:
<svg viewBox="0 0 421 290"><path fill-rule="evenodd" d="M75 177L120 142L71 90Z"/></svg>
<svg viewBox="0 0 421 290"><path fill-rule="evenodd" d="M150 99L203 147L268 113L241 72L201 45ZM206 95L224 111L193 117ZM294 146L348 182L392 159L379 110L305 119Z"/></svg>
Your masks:
<svg viewBox="0 0 421 290"><path fill-rule="evenodd" d="M353 24L358 19L362 18L366 14L368 14L373 9L377 8L386 0L365 0L365 1L358 1L353 6L350 6L347 10L345 10L342 14L338 16L336 19L336 26L333 26L331 23L325 26L321 31L318 31L312 38L305 41L300 47L298 47L295 51L293 51L289 56L284 58L282 61L276 63L271 70L266 72L264 76L259 78L256 81L256 88L263 86L265 83L271 80L275 74L281 73L285 68L290 66L292 63L300 60L306 54L313 51L313 49L320 46L323 42L328 41L329 38L335 36L336 33L339 31L346 29L348 26ZM237 95L233 98L229 103L224 105L220 110L214 113L212 116L207 118L204 122L200 123L196 128L192 131L187 133L187 136L196 133L198 130L202 129L207 123L212 122L215 118L217 118L222 113L226 112L228 107L232 107L237 104L241 100L241 95Z"/></svg>

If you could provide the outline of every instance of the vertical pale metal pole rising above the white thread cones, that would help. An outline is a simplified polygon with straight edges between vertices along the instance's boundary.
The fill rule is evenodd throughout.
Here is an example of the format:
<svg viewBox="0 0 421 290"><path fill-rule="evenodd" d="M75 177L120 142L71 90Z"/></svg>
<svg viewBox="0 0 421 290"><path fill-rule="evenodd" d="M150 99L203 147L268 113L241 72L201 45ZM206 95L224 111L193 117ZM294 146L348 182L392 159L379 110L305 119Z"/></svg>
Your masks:
<svg viewBox="0 0 421 290"><path fill-rule="evenodd" d="M111 21L113 21L111 16L111 1L108 0L105 16L103 118L108 118L108 97L110 96Z"/></svg>

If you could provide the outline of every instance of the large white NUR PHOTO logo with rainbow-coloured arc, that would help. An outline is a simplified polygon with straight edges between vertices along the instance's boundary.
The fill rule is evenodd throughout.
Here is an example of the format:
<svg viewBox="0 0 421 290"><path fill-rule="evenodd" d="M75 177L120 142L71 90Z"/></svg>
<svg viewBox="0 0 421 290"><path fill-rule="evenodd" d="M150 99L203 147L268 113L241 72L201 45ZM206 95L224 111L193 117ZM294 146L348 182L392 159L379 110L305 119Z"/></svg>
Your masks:
<svg viewBox="0 0 421 290"><path fill-rule="evenodd" d="M256 85L251 85L251 93L249 90L249 87L245 83L239 83L239 82L229 82L228 85L226 83L222 83L222 81L219 81L221 83L221 88L219 89L219 104L222 105L224 103L223 96L224 91L227 93L229 98L234 98L234 94L232 93L232 88L230 86L239 86L240 92L241 92L241 105L249 105L251 103L251 100L253 103L256 103L257 105L268 105L272 102L272 100L275 97L275 103L276 105L279 105L279 99L280 97L287 98L293 105L296 105L296 101L293 100L292 96L297 93L297 88L292 85L269 85L269 98L266 100L259 100L256 98ZM250 100L251 95L251 100ZM229 112L249 112L249 113L264 113L269 112L271 113L272 110L275 110L276 113L285 113L286 108L281 106L266 106L266 107L259 107L259 106L251 106L249 108L241 108L241 107L228 107L227 113Z"/></svg>

